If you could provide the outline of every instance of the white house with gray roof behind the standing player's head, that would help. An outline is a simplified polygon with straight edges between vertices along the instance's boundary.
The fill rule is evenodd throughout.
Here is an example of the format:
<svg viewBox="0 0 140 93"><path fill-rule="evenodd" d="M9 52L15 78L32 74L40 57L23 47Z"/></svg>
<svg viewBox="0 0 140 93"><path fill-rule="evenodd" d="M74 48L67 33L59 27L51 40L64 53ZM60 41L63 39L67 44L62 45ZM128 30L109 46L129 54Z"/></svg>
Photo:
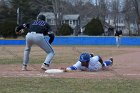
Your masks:
<svg viewBox="0 0 140 93"><path fill-rule="evenodd" d="M52 26L53 30L56 30L56 17L53 12L40 12L39 15L45 15L46 21ZM80 15L79 14L64 14L61 16L57 16L61 24L65 23L71 26L74 30L74 35L77 35L80 31Z"/></svg>

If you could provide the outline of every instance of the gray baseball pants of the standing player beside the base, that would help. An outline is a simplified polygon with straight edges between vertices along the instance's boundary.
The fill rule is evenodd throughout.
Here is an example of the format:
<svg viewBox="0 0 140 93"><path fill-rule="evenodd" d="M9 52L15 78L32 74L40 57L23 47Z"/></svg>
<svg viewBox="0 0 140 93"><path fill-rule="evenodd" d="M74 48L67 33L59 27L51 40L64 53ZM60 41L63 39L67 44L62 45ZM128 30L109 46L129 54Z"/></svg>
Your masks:
<svg viewBox="0 0 140 93"><path fill-rule="evenodd" d="M36 32L29 32L26 35L26 46L24 49L23 64L27 65L29 63L29 54L33 44L38 45L47 53L44 63L50 64L55 54L54 50L52 49L49 42L45 39L44 35Z"/></svg>

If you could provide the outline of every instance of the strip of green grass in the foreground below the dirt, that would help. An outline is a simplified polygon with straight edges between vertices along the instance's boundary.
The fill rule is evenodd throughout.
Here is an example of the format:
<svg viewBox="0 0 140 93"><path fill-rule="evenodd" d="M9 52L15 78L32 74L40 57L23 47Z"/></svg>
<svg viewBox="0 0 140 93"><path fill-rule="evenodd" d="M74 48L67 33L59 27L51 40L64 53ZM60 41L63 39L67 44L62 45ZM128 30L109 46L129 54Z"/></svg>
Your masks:
<svg viewBox="0 0 140 93"><path fill-rule="evenodd" d="M0 93L140 93L140 80L0 78Z"/></svg>

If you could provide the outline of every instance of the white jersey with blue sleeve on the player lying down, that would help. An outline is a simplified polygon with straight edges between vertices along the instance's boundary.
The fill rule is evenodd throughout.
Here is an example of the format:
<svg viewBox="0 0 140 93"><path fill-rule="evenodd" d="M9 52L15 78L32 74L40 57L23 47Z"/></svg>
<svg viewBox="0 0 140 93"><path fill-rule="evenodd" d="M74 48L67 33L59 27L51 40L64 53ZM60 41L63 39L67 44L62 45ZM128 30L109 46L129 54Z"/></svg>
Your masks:
<svg viewBox="0 0 140 93"><path fill-rule="evenodd" d="M90 58L88 67L81 66L81 62L77 61L74 65L68 67L68 70L86 70L86 71L98 71L102 68L101 63L99 62L99 56L94 56Z"/></svg>

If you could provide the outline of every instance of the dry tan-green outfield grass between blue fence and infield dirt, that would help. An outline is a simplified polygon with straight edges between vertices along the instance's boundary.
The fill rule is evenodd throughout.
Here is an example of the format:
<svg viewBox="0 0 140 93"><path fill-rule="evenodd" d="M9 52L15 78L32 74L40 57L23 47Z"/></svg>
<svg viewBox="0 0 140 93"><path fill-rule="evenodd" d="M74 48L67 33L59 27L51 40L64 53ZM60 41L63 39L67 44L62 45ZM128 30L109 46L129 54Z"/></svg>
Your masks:
<svg viewBox="0 0 140 93"><path fill-rule="evenodd" d="M0 64L22 64L25 46L0 46ZM54 64L71 63L78 60L80 53L90 52L102 57L110 57L126 53L125 50L108 50L101 46L54 46ZM113 48L113 47L110 47ZM30 53L30 64L41 64L46 53L38 46L33 46Z"/></svg>

